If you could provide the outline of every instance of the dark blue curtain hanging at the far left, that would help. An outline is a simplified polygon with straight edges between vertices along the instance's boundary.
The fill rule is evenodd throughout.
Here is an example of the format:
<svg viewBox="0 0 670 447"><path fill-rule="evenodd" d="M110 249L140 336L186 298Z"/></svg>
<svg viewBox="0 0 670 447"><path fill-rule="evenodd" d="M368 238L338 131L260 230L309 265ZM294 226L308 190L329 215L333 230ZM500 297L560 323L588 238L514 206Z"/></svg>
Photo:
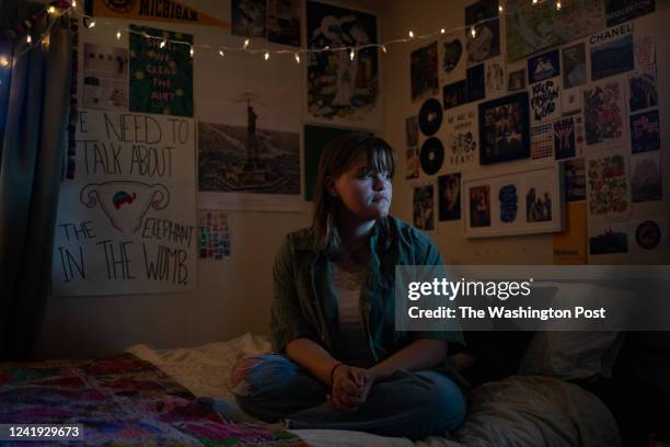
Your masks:
<svg viewBox="0 0 670 447"><path fill-rule="evenodd" d="M38 36L38 30L45 32L45 23L33 27L33 36ZM51 295L54 229L69 114L72 38L68 18L57 19L50 27L48 44L19 55L24 47L25 37L18 37L10 48L15 55L12 65L0 67L11 70L0 84L8 90L4 107L0 94L0 110L4 108L3 135L0 133L0 360L30 357Z"/></svg>

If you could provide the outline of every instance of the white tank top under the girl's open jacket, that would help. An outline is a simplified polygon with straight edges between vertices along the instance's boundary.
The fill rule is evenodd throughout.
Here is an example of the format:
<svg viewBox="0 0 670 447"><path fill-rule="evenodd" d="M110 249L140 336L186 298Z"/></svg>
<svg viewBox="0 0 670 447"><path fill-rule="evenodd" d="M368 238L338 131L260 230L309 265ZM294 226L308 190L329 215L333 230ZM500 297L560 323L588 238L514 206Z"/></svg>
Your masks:
<svg viewBox="0 0 670 447"><path fill-rule="evenodd" d="M369 367L372 362L360 313L360 290L366 278L366 270L349 273L340 270L337 264L333 265L344 356L340 360L353 366Z"/></svg>

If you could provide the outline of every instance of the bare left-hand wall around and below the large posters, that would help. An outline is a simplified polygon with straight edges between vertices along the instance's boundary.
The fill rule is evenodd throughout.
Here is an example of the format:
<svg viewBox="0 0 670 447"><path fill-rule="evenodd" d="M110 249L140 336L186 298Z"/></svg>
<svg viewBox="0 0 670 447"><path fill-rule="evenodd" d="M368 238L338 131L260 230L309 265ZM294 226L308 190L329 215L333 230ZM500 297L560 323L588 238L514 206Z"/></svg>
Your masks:
<svg viewBox="0 0 670 447"><path fill-rule="evenodd" d="M183 3L213 18L230 20L229 1L184 0ZM343 0L337 4L378 12L381 2ZM193 33L195 42L203 44L216 43L218 35L227 33L206 26L145 23ZM113 35L114 28L101 24L89 37L82 34L80 42L97 42L97 33ZM197 69L196 58L194 70ZM244 70L244 67L235 69ZM194 87L196 121L198 99L207 95L208 90L220 88L218 83ZM302 98L296 101L302 104ZM157 347L195 346L245 332L267 333L275 252L287 232L309 225L310 213L308 203L300 213L230 211L232 255L222 262L198 261L197 289L193 291L51 298L34 357L97 357L118 353L136 343Z"/></svg>

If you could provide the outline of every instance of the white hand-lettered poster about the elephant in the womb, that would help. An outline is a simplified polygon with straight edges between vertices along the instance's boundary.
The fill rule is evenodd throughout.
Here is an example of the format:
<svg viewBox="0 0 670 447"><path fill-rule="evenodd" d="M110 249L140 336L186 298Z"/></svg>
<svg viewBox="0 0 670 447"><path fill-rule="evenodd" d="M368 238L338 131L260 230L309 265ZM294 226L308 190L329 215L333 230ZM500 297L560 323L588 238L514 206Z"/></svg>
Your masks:
<svg viewBox="0 0 670 447"><path fill-rule="evenodd" d="M77 141L77 176L59 194L54 295L194 289L194 121L81 111Z"/></svg>

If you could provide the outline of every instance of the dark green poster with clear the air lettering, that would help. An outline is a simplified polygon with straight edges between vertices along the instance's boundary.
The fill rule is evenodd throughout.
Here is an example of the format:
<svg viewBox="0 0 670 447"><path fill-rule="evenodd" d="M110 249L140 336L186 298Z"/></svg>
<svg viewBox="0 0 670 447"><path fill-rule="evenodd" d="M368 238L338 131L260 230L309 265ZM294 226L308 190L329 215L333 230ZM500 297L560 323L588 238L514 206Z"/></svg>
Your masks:
<svg viewBox="0 0 670 447"><path fill-rule="evenodd" d="M130 111L193 116L193 35L136 25L130 31Z"/></svg>

